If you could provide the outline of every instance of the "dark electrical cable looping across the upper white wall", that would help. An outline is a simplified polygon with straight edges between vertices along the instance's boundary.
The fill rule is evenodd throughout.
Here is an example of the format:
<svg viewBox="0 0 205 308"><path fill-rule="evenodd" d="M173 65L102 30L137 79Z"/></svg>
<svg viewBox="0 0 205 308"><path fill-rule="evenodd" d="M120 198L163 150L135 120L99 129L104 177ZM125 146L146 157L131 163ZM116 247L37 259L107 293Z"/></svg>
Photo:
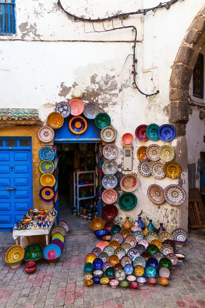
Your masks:
<svg viewBox="0 0 205 308"><path fill-rule="evenodd" d="M139 9L135 12L121 13L121 14L116 14L116 15L113 15L113 16L108 16L108 17L105 17L105 18L99 18L98 17L97 19L96 18L92 19L92 18L79 17L79 16L71 14L70 12L65 10L65 8L62 6L60 0L58 0L57 4L61 8L61 10L63 10L68 16L73 18L74 21L84 22L84 31L85 31L85 23L92 23L93 31L90 31L90 32L85 31L85 33L91 33L91 32L101 33L101 32L109 32L109 31L114 31L114 30L120 30L120 29L128 29L128 28L132 29L132 31L134 32L134 45L133 45L133 53L132 53L132 58L133 58L133 65L132 65L132 67L133 67L133 70L132 70L133 85L139 91L139 93L141 93L142 95L145 95L145 97L148 98L148 97L152 97L153 95L158 94L159 90L157 90L154 93L148 94L148 93L144 93L143 91L141 91L140 88L138 87L138 85L136 83L136 76L137 76L137 71L136 71L136 66L137 66L137 58L136 58L137 28L135 26L124 26L123 20L128 18L130 15L137 15L137 14L146 15L148 12L151 12L151 11L155 12L158 9L162 9L162 8L169 9L171 5L173 5L174 3L178 2L178 1L180 1L180 0L170 0L170 1L167 1L167 2L163 2L163 3L160 2L157 6L149 8L149 9ZM121 24L122 24L121 27L117 27L117 28L114 27L113 20L115 20L115 19L119 19L121 21ZM107 22L107 21L112 21L112 29L106 29L105 28L104 22ZM94 23L102 23L104 30L102 30L102 31L95 30ZM126 59L126 61L127 61L127 59Z"/></svg>

